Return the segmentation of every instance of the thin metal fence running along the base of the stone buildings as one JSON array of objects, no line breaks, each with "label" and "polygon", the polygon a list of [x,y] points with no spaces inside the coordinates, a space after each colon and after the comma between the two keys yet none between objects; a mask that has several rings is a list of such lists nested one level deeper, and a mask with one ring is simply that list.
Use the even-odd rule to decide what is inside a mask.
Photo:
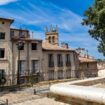
[{"label": "thin metal fence running along the base of the stone buildings", "polygon": [[[39,83],[42,81],[53,81],[53,80],[62,80],[62,79],[71,79],[71,70],[58,70],[58,71],[54,71],[54,70],[49,70],[49,72],[38,72],[36,74],[30,74],[30,75],[20,75],[19,77],[19,81],[20,84],[25,84],[25,83],[31,83],[31,84],[35,84],[35,83]],[[76,73],[75,73],[76,74]],[[78,76],[78,75],[80,76]],[[80,72],[77,72],[77,74],[75,75],[75,78],[89,78],[89,77],[95,77],[96,74],[92,74],[90,73],[89,75],[84,75],[84,73],[82,72],[82,76]],[[0,85],[0,87],[4,87],[4,86],[12,86],[15,85],[18,87],[17,85],[17,74],[14,75],[6,75],[6,83],[4,85]]]}]

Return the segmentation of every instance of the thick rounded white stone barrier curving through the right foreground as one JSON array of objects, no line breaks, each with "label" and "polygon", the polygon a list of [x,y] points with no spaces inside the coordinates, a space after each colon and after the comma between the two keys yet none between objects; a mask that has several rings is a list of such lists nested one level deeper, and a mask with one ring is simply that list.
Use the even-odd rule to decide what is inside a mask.
[{"label": "thick rounded white stone barrier curving through the right foreground", "polygon": [[92,87],[92,85],[103,82],[105,82],[105,77],[55,84],[50,87],[50,92],[59,97],[67,97],[71,101],[75,100],[81,105],[84,105],[82,102],[91,102],[90,105],[101,105],[105,104],[105,89]]}]

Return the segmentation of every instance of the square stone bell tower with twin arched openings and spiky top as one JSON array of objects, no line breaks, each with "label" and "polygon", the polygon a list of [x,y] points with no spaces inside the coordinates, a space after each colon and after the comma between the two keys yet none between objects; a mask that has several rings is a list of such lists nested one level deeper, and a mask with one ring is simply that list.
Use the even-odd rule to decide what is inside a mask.
[{"label": "square stone bell tower with twin arched openings and spiky top", "polygon": [[58,46],[58,27],[50,27],[50,30],[48,30],[48,27],[45,29],[46,34],[46,42],[50,43],[52,45]]}]

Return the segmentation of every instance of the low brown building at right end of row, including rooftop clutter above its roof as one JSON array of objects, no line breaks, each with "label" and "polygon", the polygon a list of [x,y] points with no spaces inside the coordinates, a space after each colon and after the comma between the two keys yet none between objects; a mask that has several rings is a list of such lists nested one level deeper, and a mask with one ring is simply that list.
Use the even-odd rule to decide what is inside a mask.
[{"label": "low brown building at right end of row, including rooftop clutter above its roof", "polygon": [[77,77],[89,78],[98,76],[97,60],[88,54],[88,51],[83,48],[76,49],[79,54],[79,69]]}]

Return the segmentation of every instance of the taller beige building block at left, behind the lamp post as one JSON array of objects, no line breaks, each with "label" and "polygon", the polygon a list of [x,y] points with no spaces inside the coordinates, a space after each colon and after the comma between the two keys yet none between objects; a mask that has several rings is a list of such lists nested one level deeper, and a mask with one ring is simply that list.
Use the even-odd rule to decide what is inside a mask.
[{"label": "taller beige building block at left, behind the lamp post", "polygon": [[0,71],[6,75],[7,85],[23,83],[30,73],[42,70],[42,40],[30,38],[28,30],[10,28],[13,21],[0,18]]}]

